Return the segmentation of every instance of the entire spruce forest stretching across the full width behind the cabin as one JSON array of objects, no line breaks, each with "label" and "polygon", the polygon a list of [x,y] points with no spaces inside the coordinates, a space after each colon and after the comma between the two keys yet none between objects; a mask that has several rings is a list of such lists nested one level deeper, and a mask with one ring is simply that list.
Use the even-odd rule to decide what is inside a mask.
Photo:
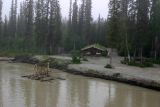
[{"label": "entire spruce forest stretching across the full width behind the cabin", "polygon": [[[106,19],[92,18],[92,0],[70,0],[62,18],[58,0],[12,0],[2,20],[0,51],[57,54],[99,43],[128,57],[160,56],[160,0],[110,0]],[[107,12],[104,11],[104,12]]]}]

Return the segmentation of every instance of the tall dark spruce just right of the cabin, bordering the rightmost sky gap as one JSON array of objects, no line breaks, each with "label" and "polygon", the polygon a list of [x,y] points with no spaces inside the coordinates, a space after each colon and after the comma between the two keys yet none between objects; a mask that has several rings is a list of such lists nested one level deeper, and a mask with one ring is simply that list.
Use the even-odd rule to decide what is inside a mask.
[{"label": "tall dark spruce just right of the cabin, bordering the rightmost sky gap", "polygon": [[120,0],[110,0],[109,2],[109,14],[108,14],[108,44],[111,48],[110,65],[112,65],[112,49],[117,48],[119,43],[119,16],[120,16]]}]

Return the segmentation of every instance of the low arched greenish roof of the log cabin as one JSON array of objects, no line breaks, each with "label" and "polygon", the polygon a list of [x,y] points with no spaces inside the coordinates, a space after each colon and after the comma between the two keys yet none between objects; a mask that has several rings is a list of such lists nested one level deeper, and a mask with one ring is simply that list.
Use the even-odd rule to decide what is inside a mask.
[{"label": "low arched greenish roof of the log cabin", "polygon": [[92,44],[92,45],[86,46],[86,47],[82,48],[81,51],[85,51],[85,50],[90,49],[90,48],[96,48],[96,49],[101,50],[101,51],[107,51],[107,48],[100,45],[100,44]]}]

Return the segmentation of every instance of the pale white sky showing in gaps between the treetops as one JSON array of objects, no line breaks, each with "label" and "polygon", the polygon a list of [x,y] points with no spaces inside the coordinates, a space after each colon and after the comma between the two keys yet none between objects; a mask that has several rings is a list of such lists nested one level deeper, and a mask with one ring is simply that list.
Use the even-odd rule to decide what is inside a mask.
[{"label": "pale white sky showing in gaps between the treetops", "polygon": [[[9,11],[10,11],[10,6],[11,6],[11,1],[12,0],[2,0],[3,1],[3,18],[5,15],[8,16]],[[18,0],[18,5],[19,3],[23,0]],[[68,17],[68,11],[69,11],[69,1],[70,0],[59,0],[60,1],[60,6],[61,6],[61,13],[62,17]],[[72,0],[74,1],[74,0]],[[81,0],[78,0],[81,1]],[[107,13],[108,13],[108,2],[109,0],[92,0],[92,17],[95,19],[98,18],[99,14],[103,18],[107,18]]]}]

